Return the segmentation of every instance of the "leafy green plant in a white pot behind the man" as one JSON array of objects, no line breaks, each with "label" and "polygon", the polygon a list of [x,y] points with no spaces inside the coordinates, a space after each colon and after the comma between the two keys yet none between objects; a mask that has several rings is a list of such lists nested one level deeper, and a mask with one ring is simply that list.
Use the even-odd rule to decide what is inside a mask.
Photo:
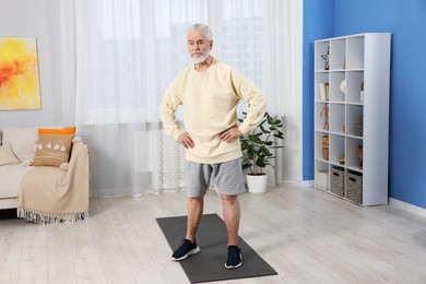
[{"label": "leafy green plant in a white pot behind the man", "polygon": [[[242,113],[247,116],[247,113]],[[242,119],[238,119],[240,122]],[[274,167],[271,161],[275,158],[273,151],[283,147],[276,140],[284,139],[281,131],[281,119],[264,114],[262,122],[240,139],[242,151],[242,170],[247,173],[247,187],[249,192],[261,193],[267,191],[267,166]]]}]

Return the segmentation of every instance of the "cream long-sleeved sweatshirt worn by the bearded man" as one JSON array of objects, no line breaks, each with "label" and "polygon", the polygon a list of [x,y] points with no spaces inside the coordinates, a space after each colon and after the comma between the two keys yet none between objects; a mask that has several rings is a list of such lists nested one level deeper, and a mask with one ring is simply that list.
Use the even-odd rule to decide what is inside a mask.
[{"label": "cream long-sleeved sweatshirt worn by the bearded man", "polygon": [[[177,140],[188,132],[196,146],[186,150],[186,159],[201,164],[217,164],[240,157],[239,140],[224,142],[222,131],[237,126],[237,105],[248,102],[247,118],[238,126],[246,134],[255,129],[267,110],[267,97],[260,88],[229,64],[214,59],[203,72],[193,64],[174,79],[163,97],[159,113],[166,134]],[[184,106],[184,125],[176,121],[178,107]]]}]

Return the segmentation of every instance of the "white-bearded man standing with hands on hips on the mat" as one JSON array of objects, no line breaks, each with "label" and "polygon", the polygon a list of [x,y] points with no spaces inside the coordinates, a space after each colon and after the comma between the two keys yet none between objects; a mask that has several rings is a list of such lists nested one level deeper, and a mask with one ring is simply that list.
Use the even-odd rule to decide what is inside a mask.
[{"label": "white-bearded man standing with hands on hips on the mat", "polygon": [[[241,265],[238,248],[240,206],[245,191],[239,137],[258,126],[267,98],[252,82],[227,63],[213,58],[212,33],[203,24],[188,29],[188,51],[192,64],[180,71],[167,88],[159,110],[165,132],[186,150],[188,223],[186,236],[173,253],[176,261],[200,252],[196,234],[203,213],[204,194],[211,178],[221,194],[228,237],[227,269]],[[248,102],[247,118],[237,126],[237,105]],[[175,119],[184,106],[185,129]]]}]

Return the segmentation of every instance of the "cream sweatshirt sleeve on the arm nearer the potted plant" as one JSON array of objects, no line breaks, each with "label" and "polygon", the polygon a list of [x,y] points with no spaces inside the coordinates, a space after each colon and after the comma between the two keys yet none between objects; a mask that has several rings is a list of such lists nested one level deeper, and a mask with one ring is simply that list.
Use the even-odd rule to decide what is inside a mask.
[{"label": "cream sweatshirt sleeve on the arm nearer the potted plant", "polygon": [[239,131],[245,135],[262,122],[267,111],[268,98],[262,91],[240,72],[233,70],[232,80],[237,94],[248,103],[247,117],[238,126]]}]

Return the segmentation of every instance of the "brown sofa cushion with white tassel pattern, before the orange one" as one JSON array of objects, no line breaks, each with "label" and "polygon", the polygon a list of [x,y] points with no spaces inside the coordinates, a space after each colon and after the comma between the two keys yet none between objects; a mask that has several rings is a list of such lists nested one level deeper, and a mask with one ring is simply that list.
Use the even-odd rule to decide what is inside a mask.
[{"label": "brown sofa cushion with white tassel pattern, before the orange one", "polygon": [[74,134],[38,134],[33,166],[59,167],[70,159]]}]

